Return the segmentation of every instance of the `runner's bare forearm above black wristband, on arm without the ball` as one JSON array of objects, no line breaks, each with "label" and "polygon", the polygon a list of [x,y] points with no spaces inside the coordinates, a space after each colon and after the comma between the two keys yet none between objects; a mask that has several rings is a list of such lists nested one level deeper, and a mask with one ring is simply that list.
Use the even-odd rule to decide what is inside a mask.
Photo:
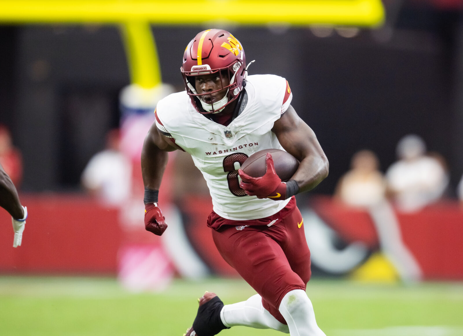
[{"label": "runner's bare forearm above black wristband, on arm without the ball", "polygon": [[152,142],[145,141],[141,159],[144,187],[159,190],[167,165],[168,153],[159,149]]}]

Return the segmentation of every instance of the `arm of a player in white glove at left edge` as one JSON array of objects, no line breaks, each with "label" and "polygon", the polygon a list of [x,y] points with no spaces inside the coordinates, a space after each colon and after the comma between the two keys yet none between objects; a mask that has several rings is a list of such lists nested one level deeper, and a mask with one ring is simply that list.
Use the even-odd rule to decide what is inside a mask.
[{"label": "arm of a player in white glove at left edge", "polygon": [[23,232],[27,218],[27,208],[19,202],[18,191],[14,187],[11,178],[6,174],[0,165],[0,207],[4,208],[11,214],[13,222],[13,247],[21,245]]}]

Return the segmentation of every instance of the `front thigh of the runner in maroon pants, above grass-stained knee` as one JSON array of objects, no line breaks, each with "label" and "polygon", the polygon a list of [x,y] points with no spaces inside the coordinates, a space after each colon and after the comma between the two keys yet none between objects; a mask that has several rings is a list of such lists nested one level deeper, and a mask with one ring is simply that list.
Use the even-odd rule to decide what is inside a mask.
[{"label": "front thigh of the runner in maroon pants, above grass-stained knee", "polygon": [[217,249],[264,299],[278,305],[289,290],[305,289],[305,282],[291,269],[282,247],[262,229],[233,230],[238,231],[234,227],[213,231]]}]

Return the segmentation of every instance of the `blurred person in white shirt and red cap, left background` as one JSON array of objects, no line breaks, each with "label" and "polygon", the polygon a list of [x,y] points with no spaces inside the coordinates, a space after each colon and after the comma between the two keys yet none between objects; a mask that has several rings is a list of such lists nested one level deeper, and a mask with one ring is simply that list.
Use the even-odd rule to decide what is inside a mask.
[{"label": "blurred person in white shirt and red cap, left background", "polygon": [[131,193],[132,166],[120,148],[119,129],[106,134],[106,149],[96,153],[82,172],[82,185],[106,206],[119,207]]}]

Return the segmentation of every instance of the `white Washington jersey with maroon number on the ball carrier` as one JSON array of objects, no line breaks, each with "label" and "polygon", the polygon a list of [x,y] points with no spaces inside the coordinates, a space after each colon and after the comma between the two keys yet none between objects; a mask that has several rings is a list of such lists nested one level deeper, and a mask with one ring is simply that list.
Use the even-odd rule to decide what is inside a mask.
[{"label": "white Washington jersey with maroon number on the ball carrier", "polygon": [[291,103],[288,82],[275,75],[251,75],[245,90],[247,104],[228,126],[198,113],[186,91],[173,93],[156,106],[156,126],[191,154],[206,179],[214,211],[230,220],[268,217],[289,202],[246,195],[238,181],[238,169],[251,154],[284,150],[271,129]]}]

